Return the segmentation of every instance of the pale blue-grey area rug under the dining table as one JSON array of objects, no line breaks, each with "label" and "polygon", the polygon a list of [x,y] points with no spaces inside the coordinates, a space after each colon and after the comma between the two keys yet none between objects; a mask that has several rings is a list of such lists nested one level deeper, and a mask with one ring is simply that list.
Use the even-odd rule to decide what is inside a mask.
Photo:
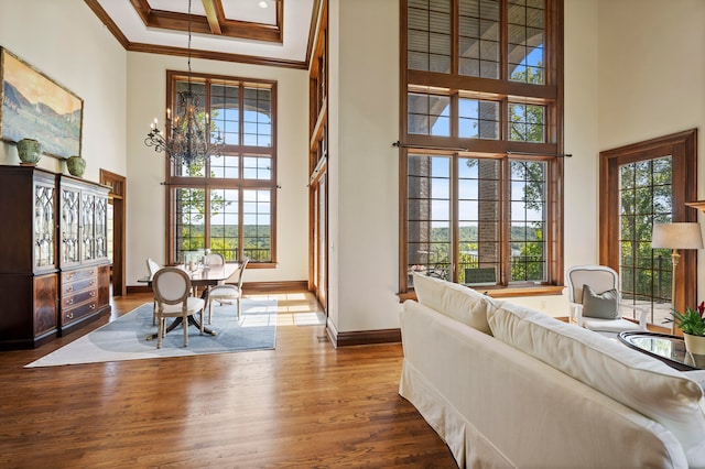
[{"label": "pale blue-grey area rug under the dining table", "polygon": [[189,326],[188,347],[184,347],[183,329],[177,326],[166,335],[162,348],[158,349],[156,339],[147,340],[148,336],[156,334],[156,326],[152,325],[152,304],[149,303],[25,368],[273,349],[276,339],[276,301],[242,299],[239,320],[235,305],[216,306],[213,324],[207,327],[215,330],[216,336],[200,336],[196,327]]}]

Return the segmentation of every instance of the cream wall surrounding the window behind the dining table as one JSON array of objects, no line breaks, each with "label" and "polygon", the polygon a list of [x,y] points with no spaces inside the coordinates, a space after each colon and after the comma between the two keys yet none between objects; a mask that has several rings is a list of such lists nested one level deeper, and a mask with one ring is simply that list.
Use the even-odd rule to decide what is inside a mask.
[{"label": "cream wall surrounding the window behind the dining table", "polygon": [[[127,284],[147,274],[147,258],[165,261],[164,154],[144,145],[154,118],[164,120],[166,70],[186,70],[185,57],[128,54]],[[246,282],[305,281],[308,275],[308,73],[192,59],[194,73],[278,81],[276,269],[248,269]]]}]

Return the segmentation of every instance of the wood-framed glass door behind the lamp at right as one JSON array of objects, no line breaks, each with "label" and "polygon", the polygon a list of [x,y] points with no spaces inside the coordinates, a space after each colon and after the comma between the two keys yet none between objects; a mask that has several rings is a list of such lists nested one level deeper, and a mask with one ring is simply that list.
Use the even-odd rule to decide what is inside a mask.
[{"label": "wood-framed glass door behind the lamp at right", "polygon": [[651,249],[654,223],[697,221],[697,132],[688,130],[600,153],[600,263],[620,274],[622,301],[664,327],[696,302],[697,257],[681,251],[675,292],[671,250]]}]

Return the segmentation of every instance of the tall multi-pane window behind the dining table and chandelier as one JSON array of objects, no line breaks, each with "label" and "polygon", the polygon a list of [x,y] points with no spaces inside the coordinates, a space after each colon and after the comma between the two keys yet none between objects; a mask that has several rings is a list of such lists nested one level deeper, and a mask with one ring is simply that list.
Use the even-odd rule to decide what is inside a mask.
[{"label": "tall multi-pane window behind the dining table and chandelier", "polygon": [[[171,108],[186,89],[183,74],[167,73]],[[205,163],[170,164],[170,262],[209,249],[226,261],[275,262],[276,84],[192,74],[192,91],[208,112],[225,155]]]}]

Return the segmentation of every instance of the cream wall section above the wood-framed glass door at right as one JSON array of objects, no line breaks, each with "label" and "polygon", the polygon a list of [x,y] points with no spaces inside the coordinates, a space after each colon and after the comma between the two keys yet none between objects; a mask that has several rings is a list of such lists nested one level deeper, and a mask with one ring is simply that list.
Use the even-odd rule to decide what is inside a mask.
[{"label": "cream wall section above the wood-framed glass door at right", "polygon": [[[698,199],[705,199],[705,2],[600,0],[598,21],[599,150],[695,128]],[[705,251],[698,264],[702,273]]]}]

